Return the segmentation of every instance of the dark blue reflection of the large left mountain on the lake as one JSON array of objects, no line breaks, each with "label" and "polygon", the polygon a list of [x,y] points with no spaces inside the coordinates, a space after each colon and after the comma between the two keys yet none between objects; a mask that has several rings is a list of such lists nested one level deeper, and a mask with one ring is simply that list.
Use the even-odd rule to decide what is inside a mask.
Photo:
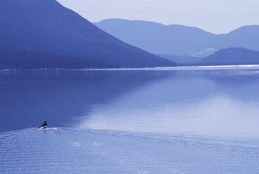
[{"label": "dark blue reflection of the large left mountain on the lake", "polygon": [[161,72],[17,71],[0,72],[0,132],[76,126],[93,105],[106,105],[151,81]]}]

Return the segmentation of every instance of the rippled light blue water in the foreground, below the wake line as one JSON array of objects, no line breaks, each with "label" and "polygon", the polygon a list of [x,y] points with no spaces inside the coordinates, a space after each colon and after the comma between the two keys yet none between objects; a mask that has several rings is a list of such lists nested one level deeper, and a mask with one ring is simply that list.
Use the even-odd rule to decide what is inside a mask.
[{"label": "rippled light blue water in the foreground, below the wake line", "polygon": [[29,128],[0,134],[0,173],[256,173],[258,140]]}]

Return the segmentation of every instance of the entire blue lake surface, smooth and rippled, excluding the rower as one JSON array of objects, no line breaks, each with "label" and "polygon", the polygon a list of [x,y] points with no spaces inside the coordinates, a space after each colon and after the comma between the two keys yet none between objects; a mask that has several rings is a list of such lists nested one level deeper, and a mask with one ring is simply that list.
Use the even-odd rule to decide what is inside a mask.
[{"label": "entire blue lake surface, smooth and rippled, excluding the rower", "polygon": [[[258,67],[0,72],[0,173],[257,173],[258,77]],[[38,130],[45,119],[53,129]]]}]

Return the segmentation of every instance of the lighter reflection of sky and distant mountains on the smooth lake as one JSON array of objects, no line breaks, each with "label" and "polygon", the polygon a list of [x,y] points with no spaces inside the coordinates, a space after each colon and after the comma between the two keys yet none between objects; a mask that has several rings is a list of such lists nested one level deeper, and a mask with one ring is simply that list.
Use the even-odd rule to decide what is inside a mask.
[{"label": "lighter reflection of sky and distant mountains on the smooth lake", "polygon": [[258,138],[258,71],[175,72],[94,105],[81,127]]}]

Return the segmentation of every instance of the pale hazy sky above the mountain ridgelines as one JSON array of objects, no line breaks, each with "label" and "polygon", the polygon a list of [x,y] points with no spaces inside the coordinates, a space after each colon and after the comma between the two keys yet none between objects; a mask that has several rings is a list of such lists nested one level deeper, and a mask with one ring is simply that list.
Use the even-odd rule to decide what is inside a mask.
[{"label": "pale hazy sky above the mountain ridgelines", "polygon": [[107,18],[200,27],[217,34],[259,24],[259,0],[58,0],[91,22]]}]

